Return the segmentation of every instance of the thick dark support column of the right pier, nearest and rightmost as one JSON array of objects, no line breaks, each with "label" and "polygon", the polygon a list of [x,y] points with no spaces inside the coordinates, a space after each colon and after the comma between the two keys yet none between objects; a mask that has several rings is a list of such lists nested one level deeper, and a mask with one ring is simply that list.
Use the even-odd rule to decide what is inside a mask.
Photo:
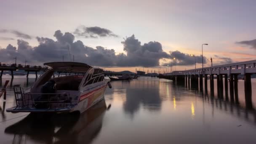
[{"label": "thick dark support column of the right pier, nearest and rightmost", "polygon": [[251,100],[251,74],[245,74],[245,105],[246,108],[252,109],[253,104]]}]

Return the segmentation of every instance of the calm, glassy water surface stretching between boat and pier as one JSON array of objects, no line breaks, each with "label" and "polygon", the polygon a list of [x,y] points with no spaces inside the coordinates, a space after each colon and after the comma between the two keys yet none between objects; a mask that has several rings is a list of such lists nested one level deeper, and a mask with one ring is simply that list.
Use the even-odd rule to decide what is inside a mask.
[{"label": "calm, glassy water surface stretching between boat and pier", "polygon": [[[9,78],[5,76],[3,82]],[[30,77],[27,84],[24,76],[17,76],[13,85],[27,87],[34,81]],[[256,106],[256,80],[252,81]],[[165,79],[139,77],[111,84],[113,88],[107,89],[105,100],[80,117],[39,119],[28,113],[5,112],[15,105],[8,87],[7,100],[0,99],[0,143],[256,144],[256,112],[244,108],[243,80],[238,83],[239,105],[174,86]]]}]

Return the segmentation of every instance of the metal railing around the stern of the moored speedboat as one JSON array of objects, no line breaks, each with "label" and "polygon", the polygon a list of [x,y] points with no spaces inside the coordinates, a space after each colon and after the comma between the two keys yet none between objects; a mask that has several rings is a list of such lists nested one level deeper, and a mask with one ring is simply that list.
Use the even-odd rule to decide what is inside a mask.
[{"label": "metal railing around the stern of the moored speedboat", "polygon": [[24,93],[23,88],[15,87],[16,109],[61,109],[72,105],[69,93]]}]

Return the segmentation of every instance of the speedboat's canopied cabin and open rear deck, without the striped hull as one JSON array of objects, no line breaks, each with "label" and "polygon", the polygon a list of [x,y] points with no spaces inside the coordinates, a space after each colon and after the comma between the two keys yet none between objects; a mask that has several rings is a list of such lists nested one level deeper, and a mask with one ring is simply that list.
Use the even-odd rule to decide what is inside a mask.
[{"label": "speedboat's canopied cabin and open rear deck, without the striped hull", "polygon": [[[44,72],[31,88],[15,90],[19,108],[36,109],[67,108],[77,104],[81,93],[106,84],[103,69],[78,62],[50,62],[44,64]],[[21,96],[19,96],[21,94]]]}]

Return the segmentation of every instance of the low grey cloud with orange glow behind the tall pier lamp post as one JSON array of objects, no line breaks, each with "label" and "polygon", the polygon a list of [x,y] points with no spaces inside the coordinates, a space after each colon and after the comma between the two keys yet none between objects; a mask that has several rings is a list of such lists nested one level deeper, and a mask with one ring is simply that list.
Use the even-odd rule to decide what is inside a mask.
[{"label": "low grey cloud with orange glow behind the tall pier lamp post", "polygon": [[[202,55],[191,56],[191,54],[181,53],[180,51],[171,51],[170,58],[172,59],[172,63],[176,65],[192,65],[195,64],[195,61],[197,64],[202,64]],[[207,61],[207,58],[204,56],[203,63],[206,63]],[[163,66],[167,65],[171,65],[171,63],[168,62],[163,64]]]}]

